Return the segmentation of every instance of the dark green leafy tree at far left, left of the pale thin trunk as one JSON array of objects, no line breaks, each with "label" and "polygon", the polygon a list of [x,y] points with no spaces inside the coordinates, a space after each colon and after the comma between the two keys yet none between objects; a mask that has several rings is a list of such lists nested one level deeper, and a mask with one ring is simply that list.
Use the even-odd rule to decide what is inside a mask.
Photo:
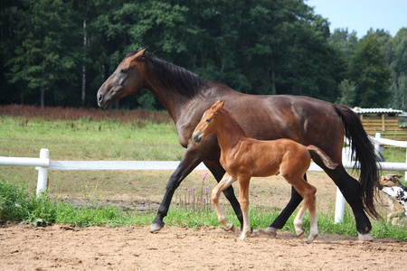
[{"label": "dark green leafy tree at far left, left of the pale thin trunk", "polygon": [[[23,86],[28,93],[40,93],[41,107],[45,93],[51,92],[56,100],[70,95],[69,87],[79,81],[75,71],[78,52],[72,51],[80,44],[71,21],[71,8],[58,0],[27,1],[19,10],[23,18],[15,25],[18,45],[14,56],[7,63],[9,83]],[[58,88],[57,88],[58,86]]]}]

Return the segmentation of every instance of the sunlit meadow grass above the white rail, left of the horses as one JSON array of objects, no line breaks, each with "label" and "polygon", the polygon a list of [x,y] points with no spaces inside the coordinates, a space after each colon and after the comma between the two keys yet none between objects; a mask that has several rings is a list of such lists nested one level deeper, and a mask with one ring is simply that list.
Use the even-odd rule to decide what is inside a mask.
[{"label": "sunlit meadow grass above the white rail, left of the horses", "polygon": [[[88,120],[31,120],[0,117],[3,156],[38,157],[41,148],[52,160],[179,160],[184,154],[174,125],[145,126]],[[129,147],[132,146],[132,147]]]}]

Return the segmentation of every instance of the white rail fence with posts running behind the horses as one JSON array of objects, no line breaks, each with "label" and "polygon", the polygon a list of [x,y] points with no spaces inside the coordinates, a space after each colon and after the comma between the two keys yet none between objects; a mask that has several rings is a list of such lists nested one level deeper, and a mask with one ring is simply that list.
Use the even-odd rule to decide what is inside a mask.
[{"label": "white rail fence with posts running behind the horses", "polygon": [[[381,138],[380,133],[371,137],[374,148],[378,152],[380,145],[395,145],[407,148],[407,142]],[[81,171],[81,170],[175,170],[179,161],[50,161],[48,149],[41,149],[40,158],[5,157],[0,156],[0,165],[35,166],[38,170],[37,195],[45,192],[49,170],[56,171]],[[407,154],[406,154],[407,155]],[[349,154],[344,149],[343,164],[345,169],[354,168],[355,162],[349,161]],[[381,170],[403,171],[407,180],[407,156],[406,163],[379,163]],[[195,170],[208,170],[204,164],[199,164]],[[311,163],[308,171],[322,171],[315,163]],[[345,198],[339,189],[336,190],[335,221],[341,222],[344,218]]]}]

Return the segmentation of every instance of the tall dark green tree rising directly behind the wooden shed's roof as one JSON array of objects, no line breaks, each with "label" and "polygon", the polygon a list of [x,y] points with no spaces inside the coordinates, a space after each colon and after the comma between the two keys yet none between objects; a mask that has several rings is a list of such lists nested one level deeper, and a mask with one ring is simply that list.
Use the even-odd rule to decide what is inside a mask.
[{"label": "tall dark green tree rising directly behind the wooden shed's roof", "polygon": [[388,106],[391,70],[386,65],[379,39],[374,33],[368,33],[357,44],[349,63],[348,78],[355,84],[355,106]]}]

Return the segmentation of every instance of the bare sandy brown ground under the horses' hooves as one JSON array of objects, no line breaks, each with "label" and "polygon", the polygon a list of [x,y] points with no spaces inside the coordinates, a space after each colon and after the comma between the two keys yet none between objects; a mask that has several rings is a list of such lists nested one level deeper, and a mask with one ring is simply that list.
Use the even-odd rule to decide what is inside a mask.
[{"label": "bare sandy brown ground under the horses' hooves", "polygon": [[322,235],[312,244],[288,232],[255,230],[241,242],[222,228],[0,229],[0,270],[396,270],[407,243]]}]

